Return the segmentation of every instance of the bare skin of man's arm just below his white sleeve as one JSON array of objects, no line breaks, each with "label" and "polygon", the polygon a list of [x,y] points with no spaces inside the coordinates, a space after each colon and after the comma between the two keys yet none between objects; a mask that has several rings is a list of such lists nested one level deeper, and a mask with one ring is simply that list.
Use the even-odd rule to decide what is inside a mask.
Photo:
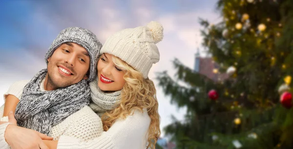
[{"label": "bare skin of man's arm just below his white sleeve", "polygon": [[5,102],[5,106],[4,106],[4,112],[3,112],[3,117],[4,116],[8,116],[8,112],[13,111],[15,112],[16,106],[17,104],[20,102],[20,100],[12,95],[12,94],[8,94],[6,96],[6,102]]}]

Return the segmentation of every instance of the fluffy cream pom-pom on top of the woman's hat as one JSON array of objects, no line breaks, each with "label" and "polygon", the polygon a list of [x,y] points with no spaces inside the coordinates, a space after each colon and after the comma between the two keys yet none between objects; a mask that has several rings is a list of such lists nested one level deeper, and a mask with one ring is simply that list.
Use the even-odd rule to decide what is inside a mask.
[{"label": "fluffy cream pom-pom on top of the woman's hat", "polygon": [[156,21],[151,21],[147,24],[147,27],[152,32],[155,43],[162,41],[164,37],[164,34],[163,34],[164,28],[162,24]]}]

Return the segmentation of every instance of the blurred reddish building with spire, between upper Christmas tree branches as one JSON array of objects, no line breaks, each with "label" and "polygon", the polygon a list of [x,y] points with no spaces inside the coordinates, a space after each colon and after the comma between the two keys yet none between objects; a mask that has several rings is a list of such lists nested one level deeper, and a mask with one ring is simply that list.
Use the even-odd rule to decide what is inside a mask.
[{"label": "blurred reddish building with spire, between upper Christmas tree branches", "polygon": [[219,73],[220,65],[213,61],[211,57],[201,57],[199,49],[195,54],[194,72],[206,75],[214,81],[222,81],[228,78],[226,73]]}]

